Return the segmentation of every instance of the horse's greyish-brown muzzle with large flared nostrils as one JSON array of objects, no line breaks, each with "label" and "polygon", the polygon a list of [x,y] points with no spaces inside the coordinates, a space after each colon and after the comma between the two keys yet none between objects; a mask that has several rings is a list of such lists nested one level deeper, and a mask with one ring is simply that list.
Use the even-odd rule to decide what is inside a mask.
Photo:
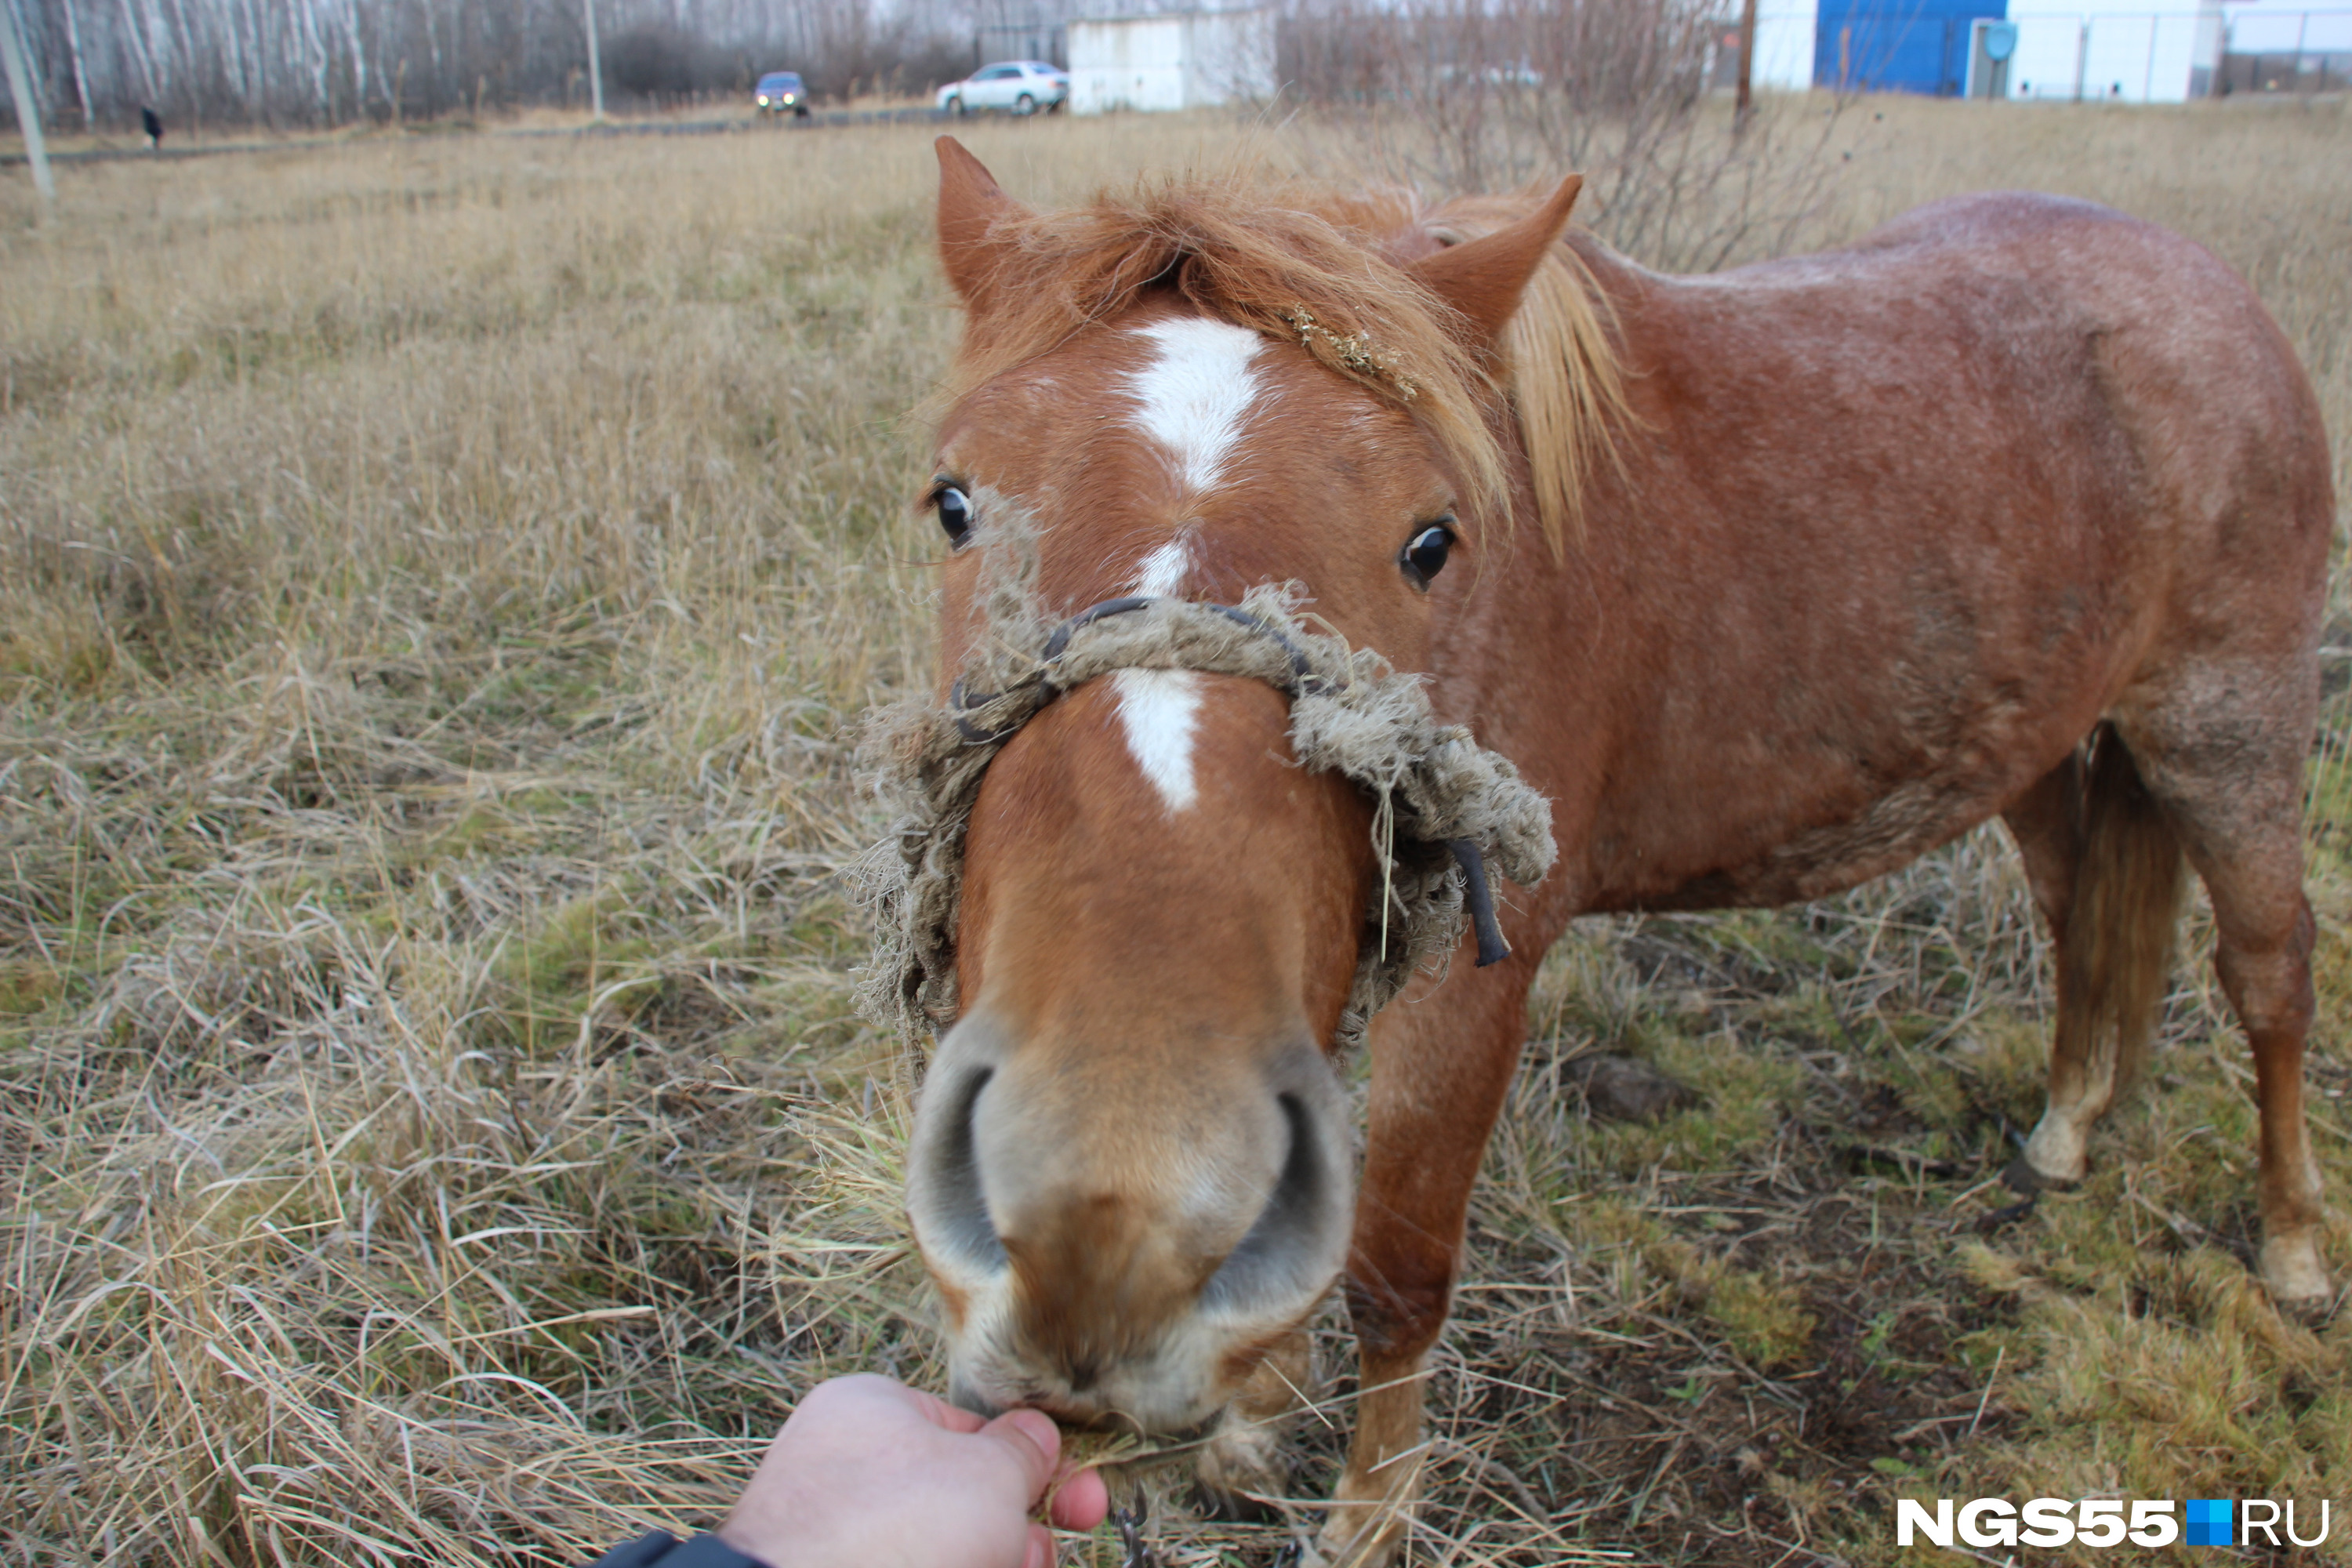
[{"label": "horse's greyish-brown muzzle with large flared nostrils", "polygon": [[1169,1434],[1216,1415],[1348,1255],[1345,1093],[1303,1034],[943,1039],[908,1152],[950,1387]]}]

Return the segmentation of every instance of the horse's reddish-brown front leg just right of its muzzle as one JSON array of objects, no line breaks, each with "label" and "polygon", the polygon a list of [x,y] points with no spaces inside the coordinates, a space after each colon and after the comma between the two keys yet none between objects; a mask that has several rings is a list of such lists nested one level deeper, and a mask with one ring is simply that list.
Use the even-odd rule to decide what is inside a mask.
[{"label": "horse's reddish-brown front leg just right of its muzzle", "polygon": [[1456,957],[1371,1032],[1371,1117],[1355,1201],[1348,1314],[1362,1347],[1355,1441],[1317,1552],[1334,1568],[1390,1563],[1421,1495],[1423,1361],[1454,1295],[1470,1185],[1526,1034],[1543,947],[1491,969]]}]

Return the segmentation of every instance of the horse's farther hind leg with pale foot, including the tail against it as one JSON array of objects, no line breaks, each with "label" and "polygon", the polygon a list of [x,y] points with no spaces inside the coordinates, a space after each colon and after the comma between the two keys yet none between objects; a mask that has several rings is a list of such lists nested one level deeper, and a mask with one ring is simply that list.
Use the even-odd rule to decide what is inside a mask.
[{"label": "horse's farther hind leg with pale foot, including the tail against it", "polygon": [[2058,959],[2049,1107],[2013,1187],[2079,1182],[2091,1126],[2131,1086],[2171,966],[2180,839],[2107,726],[2004,813]]}]

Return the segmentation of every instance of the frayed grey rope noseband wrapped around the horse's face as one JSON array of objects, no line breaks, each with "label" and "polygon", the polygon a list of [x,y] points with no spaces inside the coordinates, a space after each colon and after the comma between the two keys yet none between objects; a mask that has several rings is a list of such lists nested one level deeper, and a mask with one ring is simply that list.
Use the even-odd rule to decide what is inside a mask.
[{"label": "frayed grey rope noseband wrapped around the horse's face", "polygon": [[1343,1048],[1362,1041],[1371,1016],[1416,969],[1451,959],[1470,865],[1458,860],[1454,842],[1468,842],[1522,886],[1550,870],[1550,802],[1465,726],[1437,724],[1423,677],[1308,630],[1296,590],[1254,588],[1242,614],[1150,599],[1049,625],[1030,592],[1035,527],[997,496],[974,503],[981,517],[1007,517],[976,541],[990,548],[981,585],[985,637],[950,705],[924,698],[884,708],[868,719],[863,748],[880,795],[898,816],[849,872],[851,891],[875,919],[858,1009],[910,1046],[922,1048],[957,1011],[964,827],[990,759],[1047,703],[1112,670],[1263,679],[1291,696],[1298,766],[1343,773],[1378,802],[1381,889],[1364,912],[1355,985],[1336,1030]]}]

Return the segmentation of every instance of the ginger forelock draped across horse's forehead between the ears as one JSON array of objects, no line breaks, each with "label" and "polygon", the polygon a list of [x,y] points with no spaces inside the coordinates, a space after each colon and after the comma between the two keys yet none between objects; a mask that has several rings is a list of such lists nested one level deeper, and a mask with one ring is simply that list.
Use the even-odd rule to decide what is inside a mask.
[{"label": "ginger forelock draped across horse's forehead between the ears", "polygon": [[1152,296],[1305,348],[1411,414],[1461,487],[1463,517],[1505,517],[1491,414],[1503,388],[1449,306],[1404,268],[1418,207],[1404,195],[1301,195],[1171,183],[1065,212],[997,219],[1004,284],[971,315],[943,388],[974,388],[1115,322]]}]

